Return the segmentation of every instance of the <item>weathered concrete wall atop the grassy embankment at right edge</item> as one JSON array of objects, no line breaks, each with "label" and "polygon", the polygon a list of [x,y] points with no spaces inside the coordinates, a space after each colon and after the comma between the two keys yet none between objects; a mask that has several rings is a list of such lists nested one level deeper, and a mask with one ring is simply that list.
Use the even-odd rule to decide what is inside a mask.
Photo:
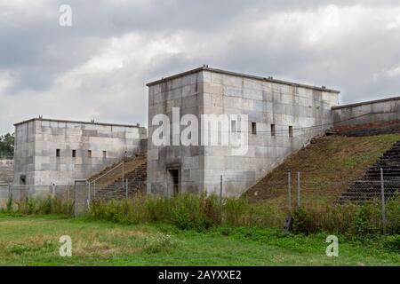
[{"label": "weathered concrete wall atop the grassy embankment at right edge", "polygon": [[348,136],[400,132],[400,97],[332,107],[334,130]]}]

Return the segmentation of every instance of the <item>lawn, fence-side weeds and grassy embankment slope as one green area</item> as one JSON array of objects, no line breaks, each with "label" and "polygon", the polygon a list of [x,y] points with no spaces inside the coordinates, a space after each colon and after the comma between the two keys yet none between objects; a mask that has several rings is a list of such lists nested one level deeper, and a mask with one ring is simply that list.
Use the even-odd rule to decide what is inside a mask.
[{"label": "lawn, fence-side weeds and grassy embankment slope as one green area", "polygon": [[[398,265],[400,199],[386,204],[387,236],[379,201],[332,203],[398,139],[320,139],[244,197],[221,203],[204,194],[138,195],[92,201],[87,214],[73,218],[73,204],[58,198],[10,199],[0,211],[0,264]],[[297,170],[301,208],[291,212],[293,230],[284,234],[286,172]],[[339,257],[325,255],[331,234],[339,237]],[[71,236],[73,257],[59,256],[61,235]]]}]

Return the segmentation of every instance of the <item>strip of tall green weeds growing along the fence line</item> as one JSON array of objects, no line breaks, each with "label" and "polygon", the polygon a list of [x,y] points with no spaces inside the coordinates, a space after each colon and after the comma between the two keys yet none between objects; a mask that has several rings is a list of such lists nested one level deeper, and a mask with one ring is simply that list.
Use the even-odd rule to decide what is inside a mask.
[{"label": "strip of tall green weeds growing along the fence line", "polygon": [[[26,199],[8,201],[5,212],[23,215],[66,214],[73,204],[60,199]],[[174,225],[180,230],[205,232],[215,227],[280,228],[286,209],[268,202],[251,203],[244,198],[228,198],[220,203],[214,196],[180,194],[173,198],[136,196],[129,200],[92,201],[86,217],[124,225]],[[294,233],[345,234],[364,240],[382,232],[380,202],[364,205],[332,205],[324,201],[307,202],[292,212]],[[400,199],[386,203],[387,233],[400,233]]]}]

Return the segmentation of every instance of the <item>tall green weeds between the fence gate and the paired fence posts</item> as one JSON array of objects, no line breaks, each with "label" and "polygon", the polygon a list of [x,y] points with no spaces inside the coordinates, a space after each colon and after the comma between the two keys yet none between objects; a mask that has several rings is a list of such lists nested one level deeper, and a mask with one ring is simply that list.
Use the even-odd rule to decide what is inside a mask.
[{"label": "tall green weeds between the fence gate and the paired fence posts", "polygon": [[173,198],[137,196],[124,201],[94,201],[89,217],[124,224],[167,223],[182,230],[207,230],[214,226],[281,225],[284,213],[266,203],[225,199],[216,195],[182,193]]}]

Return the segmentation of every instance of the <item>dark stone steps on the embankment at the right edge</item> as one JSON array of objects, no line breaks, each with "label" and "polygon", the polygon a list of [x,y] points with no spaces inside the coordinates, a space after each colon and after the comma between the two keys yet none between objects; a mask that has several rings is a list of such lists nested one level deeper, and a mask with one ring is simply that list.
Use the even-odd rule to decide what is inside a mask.
[{"label": "dark stone steps on the embankment at the right edge", "polygon": [[380,169],[383,169],[384,195],[387,201],[400,191],[400,141],[397,141],[364,175],[340,194],[339,203],[370,202],[381,198]]}]

